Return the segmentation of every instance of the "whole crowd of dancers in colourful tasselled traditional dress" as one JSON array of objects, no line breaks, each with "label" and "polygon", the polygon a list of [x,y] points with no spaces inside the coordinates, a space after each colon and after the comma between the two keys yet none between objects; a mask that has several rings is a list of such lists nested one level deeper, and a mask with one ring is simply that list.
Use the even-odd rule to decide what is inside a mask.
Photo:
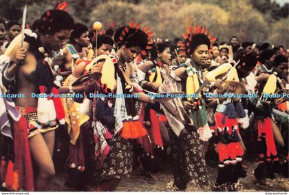
[{"label": "whole crowd of dancers in colourful tasselled traditional dress", "polygon": [[65,6],[30,28],[0,19],[1,191],[47,191],[57,167],[70,187],[115,191],[164,165],[164,191],[237,191],[248,153],[259,185],[288,177],[286,48],[201,25],[173,41],[142,23],[88,28]]}]

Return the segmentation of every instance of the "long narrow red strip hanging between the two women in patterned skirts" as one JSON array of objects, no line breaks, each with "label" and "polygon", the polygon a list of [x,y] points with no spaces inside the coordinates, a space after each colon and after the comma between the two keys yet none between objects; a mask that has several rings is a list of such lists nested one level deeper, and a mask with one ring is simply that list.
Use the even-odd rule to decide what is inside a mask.
[{"label": "long narrow red strip hanging between the two women in patterned skirts", "polygon": [[150,109],[149,114],[151,115],[151,132],[153,134],[153,142],[155,145],[163,146],[162,136],[160,134],[160,122],[158,121],[158,116],[156,111]]}]

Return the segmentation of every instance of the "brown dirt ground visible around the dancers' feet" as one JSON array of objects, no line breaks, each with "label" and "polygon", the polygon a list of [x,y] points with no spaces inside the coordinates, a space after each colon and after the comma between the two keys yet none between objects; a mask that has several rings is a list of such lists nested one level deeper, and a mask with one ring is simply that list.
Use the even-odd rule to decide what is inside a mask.
[{"label": "brown dirt ground visible around the dancers' feet", "polygon": [[[239,191],[242,192],[288,192],[289,190],[289,178],[283,178],[279,174],[275,174],[276,178],[271,180],[267,179],[267,186],[257,185],[254,179],[253,171],[257,166],[257,162],[244,161],[246,167],[246,178],[240,179]],[[217,177],[217,167],[208,167],[209,178],[211,182],[215,181]],[[171,181],[172,175],[169,167],[165,167],[164,170],[157,174],[152,174],[153,179],[141,176],[138,172],[133,172],[129,178],[122,179],[120,185],[116,189],[118,192],[165,192],[167,191],[167,183]],[[67,187],[65,181],[68,174],[66,172],[57,173],[56,177],[50,183],[51,192],[74,192],[76,189]],[[88,191],[93,191],[94,186],[88,186]],[[200,191],[193,184],[189,184],[186,189],[187,192]]]}]

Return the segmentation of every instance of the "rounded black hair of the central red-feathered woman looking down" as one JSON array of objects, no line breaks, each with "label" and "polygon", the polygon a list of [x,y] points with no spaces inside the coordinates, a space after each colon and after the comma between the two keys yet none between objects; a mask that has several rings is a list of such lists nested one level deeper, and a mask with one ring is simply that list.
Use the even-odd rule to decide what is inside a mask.
[{"label": "rounded black hair of the central red-feathered woman looking down", "polygon": [[129,28],[128,36],[124,37],[124,39],[120,40],[120,34],[125,28],[129,28],[129,26],[122,26],[116,30],[116,34],[114,34],[114,41],[118,44],[120,48],[122,45],[125,45],[127,48],[131,47],[140,47],[141,50],[145,50],[147,48],[147,34],[142,30],[136,28]]}]

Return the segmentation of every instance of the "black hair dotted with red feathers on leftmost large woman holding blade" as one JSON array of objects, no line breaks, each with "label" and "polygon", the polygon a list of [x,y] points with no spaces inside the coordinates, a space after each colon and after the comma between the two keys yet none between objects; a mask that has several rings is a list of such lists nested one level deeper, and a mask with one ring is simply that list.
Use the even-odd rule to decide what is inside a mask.
[{"label": "black hair dotted with red feathers on leftmost large woman holding blade", "polygon": [[74,19],[68,12],[63,10],[47,10],[41,16],[39,23],[39,33],[54,34],[61,30],[72,30]]}]

